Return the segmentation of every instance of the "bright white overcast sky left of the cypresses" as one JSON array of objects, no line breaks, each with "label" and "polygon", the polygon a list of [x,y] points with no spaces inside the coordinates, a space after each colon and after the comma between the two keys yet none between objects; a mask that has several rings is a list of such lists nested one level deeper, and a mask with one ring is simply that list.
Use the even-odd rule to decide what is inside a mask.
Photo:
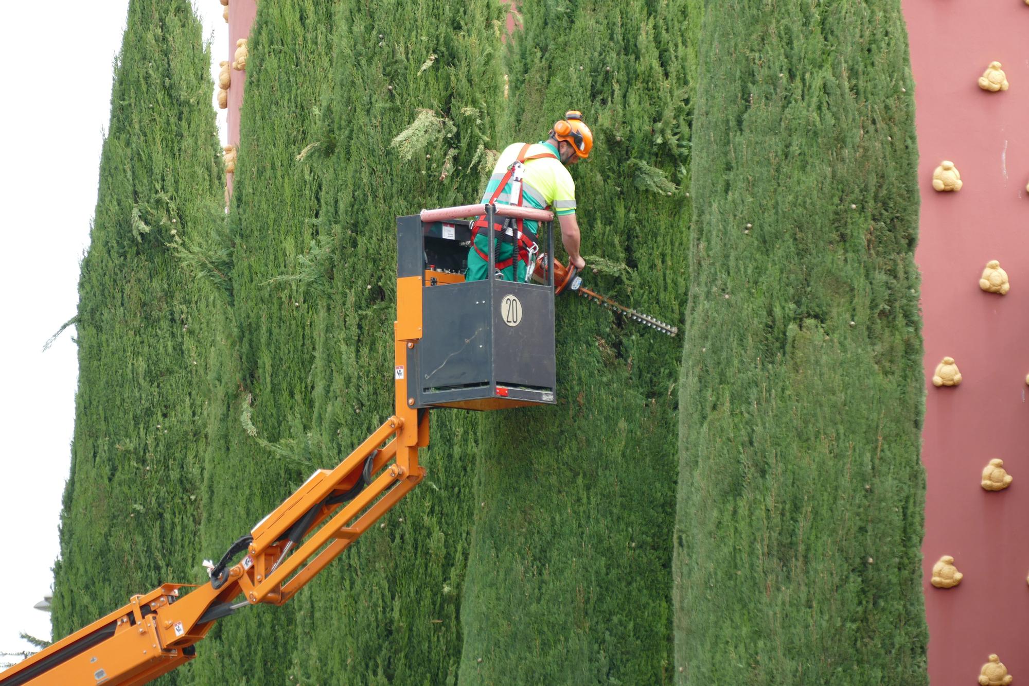
[{"label": "bright white overcast sky left of the cypresses", "polygon": [[[0,652],[30,648],[20,631],[50,638],[49,615],[32,606],[54,583],[75,418],[74,330],[42,347],[76,312],[128,7],[0,5]],[[228,53],[221,9],[198,0],[213,45],[212,97]],[[225,110],[217,111],[224,141]]]}]

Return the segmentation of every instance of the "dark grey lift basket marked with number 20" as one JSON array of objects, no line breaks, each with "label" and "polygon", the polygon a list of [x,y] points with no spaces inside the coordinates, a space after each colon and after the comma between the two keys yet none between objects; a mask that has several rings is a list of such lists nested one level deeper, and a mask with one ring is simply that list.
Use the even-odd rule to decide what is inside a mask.
[{"label": "dark grey lift basket marked with number 20", "polygon": [[[464,279],[472,221],[462,217],[469,216],[505,228],[487,232],[494,278]],[[517,244],[517,218],[538,221],[540,247],[553,255],[554,215],[545,210],[464,205],[397,217],[397,283],[414,277],[398,288],[397,311],[421,321],[407,364],[396,369],[409,375],[409,405],[499,410],[556,402],[554,269],[544,261],[537,282],[504,280],[496,269],[499,242]]]}]

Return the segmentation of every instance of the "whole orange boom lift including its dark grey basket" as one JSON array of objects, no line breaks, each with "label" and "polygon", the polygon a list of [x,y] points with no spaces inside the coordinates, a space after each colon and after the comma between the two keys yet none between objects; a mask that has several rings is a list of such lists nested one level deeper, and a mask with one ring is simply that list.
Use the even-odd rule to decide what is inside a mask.
[{"label": "whole orange boom lift including its dark grey basket", "polygon": [[[549,254],[554,254],[549,211],[464,205],[397,218],[393,416],[334,469],[315,472],[239,539],[214,567],[209,583],[163,584],[149,593],[133,595],[118,610],[0,674],[0,686],[149,683],[192,659],[194,644],[218,619],[246,606],[289,601],[418,485],[425,476],[418,451],[429,444],[429,408],[489,410],[555,403],[554,294],[574,278],[575,270],[563,273],[565,278],[557,288],[555,270],[545,265],[541,284],[499,279],[465,282],[461,260],[471,239],[470,222],[459,217],[483,215],[488,226],[511,227],[510,219],[519,217],[539,221],[548,235]],[[513,241],[517,235],[489,234],[492,274],[495,242]],[[539,280],[540,275],[536,276]],[[455,302],[470,306],[472,301],[485,317],[472,322],[473,336],[481,337],[478,348],[487,352],[477,367],[460,366],[437,383],[433,377],[443,378],[439,370],[455,356],[460,361],[464,355],[457,352],[474,339],[457,340],[460,332],[455,336],[442,325],[434,332],[430,328],[426,337],[423,318],[429,317],[423,314],[434,317],[436,310],[431,307],[446,309]],[[524,314],[523,301],[527,304]],[[501,353],[507,358],[494,359]],[[434,356],[443,358],[435,368]],[[413,383],[416,376],[419,383]],[[246,554],[234,563],[241,553]]]}]

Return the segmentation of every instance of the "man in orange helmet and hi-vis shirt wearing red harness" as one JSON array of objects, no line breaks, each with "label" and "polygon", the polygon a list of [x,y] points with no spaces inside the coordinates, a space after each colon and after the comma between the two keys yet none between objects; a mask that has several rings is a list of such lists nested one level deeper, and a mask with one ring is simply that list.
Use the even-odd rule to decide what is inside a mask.
[{"label": "man in orange helmet and hi-vis shirt wearing red harness", "polygon": [[[552,209],[561,225],[561,240],[568,252],[569,263],[581,271],[586,260],[579,254],[579,228],[575,218],[575,182],[568,167],[590,157],[593,147],[593,132],[577,111],[565,113],[565,118],[555,123],[546,140],[530,145],[512,143],[500,153],[493,169],[493,176],[483,194],[485,204],[518,205],[536,209]],[[539,252],[536,240],[538,222],[531,219],[497,217],[494,229],[514,237],[518,259],[514,259],[516,243],[499,240],[494,243],[497,272],[505,280],[526,281],[530,273],[529,265],[535,262]],[[490,255],[489,234],[486,233],[486,217],[481,216],[473,225],[471,249],[468,251],[466,281],[478,281],[487,277]],[[517,270],[517,273],[516,273]]]}]

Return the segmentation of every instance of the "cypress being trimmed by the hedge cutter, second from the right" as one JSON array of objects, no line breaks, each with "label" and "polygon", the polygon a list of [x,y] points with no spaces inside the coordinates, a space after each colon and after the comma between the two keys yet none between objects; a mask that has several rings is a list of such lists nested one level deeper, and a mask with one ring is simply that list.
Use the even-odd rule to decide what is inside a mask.
[{"label": "cypress being trimmed by the hedge cutter, second from the right", "polygon": [[[581,110],[595,146],[571,173],[588,285],[680,320],[684,2],[521,12],[502,144]],[[668,683],[679,344],[572,296],[557,337],[558,406],[484,419],[459,683]]]}]

